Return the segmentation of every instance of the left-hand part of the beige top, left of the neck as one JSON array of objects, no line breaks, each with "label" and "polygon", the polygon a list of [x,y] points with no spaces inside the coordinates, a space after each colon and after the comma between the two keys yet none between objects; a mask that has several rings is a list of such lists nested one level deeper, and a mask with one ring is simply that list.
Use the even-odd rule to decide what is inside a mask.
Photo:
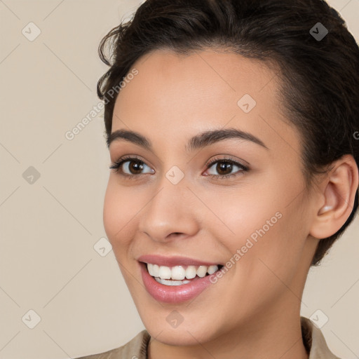
[{"label": "left-hand part of the beige top, left of the neck", "polygon": [[150,339],[149,332],[142,330],[128,343],[118,348],[93,355],[82,356],[74,359],[146,359],[147,344]]}]

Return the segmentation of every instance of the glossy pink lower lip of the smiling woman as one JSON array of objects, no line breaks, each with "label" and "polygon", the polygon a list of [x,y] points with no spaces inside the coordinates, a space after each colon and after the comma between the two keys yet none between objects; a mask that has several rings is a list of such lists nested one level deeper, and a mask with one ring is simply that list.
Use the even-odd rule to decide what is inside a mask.
[{"label": "glossy pink lower lip of the smiling woman", "polygon": [[147,292],[149,292],[154,299],[165,303],[180,303],[197,297],[198,294],[212,284],[210,282],[210,276],[214,276],[215,274],[213,273],[203,278],[196,278],[187,284],[163,285],[156,282],[154,277],[149,274],[146,264],[140,262],[140,267],[142,280]]}]

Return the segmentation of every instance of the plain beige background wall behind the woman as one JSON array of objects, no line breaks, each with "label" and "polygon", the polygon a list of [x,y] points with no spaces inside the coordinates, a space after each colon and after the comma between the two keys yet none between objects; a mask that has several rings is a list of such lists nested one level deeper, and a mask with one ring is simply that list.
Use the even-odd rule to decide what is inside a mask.
[{"label": "plain beige background wall behind the woman", "polygon": [[[329,2],[359,39],[359,0]],[[144,329],[114,253],[95,250],[106,237],[103,110],[73,140],[65,137],[100,102],[100,39],[138,4],[0,0],[0,359],[76,358]],[[29,22],[41,31],[33,41]],[[302,306],[308,318],[325,313],[328,346],[347,359],[359,356],[358,235],[356,217],[311,269]]]}]

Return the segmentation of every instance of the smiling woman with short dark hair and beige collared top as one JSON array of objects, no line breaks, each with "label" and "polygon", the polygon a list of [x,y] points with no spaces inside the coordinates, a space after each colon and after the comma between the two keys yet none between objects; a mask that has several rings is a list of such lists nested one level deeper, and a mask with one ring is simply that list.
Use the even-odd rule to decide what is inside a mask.
[{"label": "smiling woman with short dark hair and beige collared top", "polygon": [[300,316],[358,209],[359,48],[338,13],[149,0],[100,55],[104,228],[146,330],[83,358],[338,358]]}]

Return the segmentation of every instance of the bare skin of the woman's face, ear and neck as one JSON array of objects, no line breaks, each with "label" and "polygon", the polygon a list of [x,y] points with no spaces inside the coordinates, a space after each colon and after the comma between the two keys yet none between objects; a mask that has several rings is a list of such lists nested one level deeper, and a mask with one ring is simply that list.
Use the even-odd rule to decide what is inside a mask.
[{"label": "bare skin of the woman's face, ear and neck", "polygon": [[[137,179],[111,170],[104,228],[151,334],[148,357],[308,358],[300,327],[304,283],[319,239],[340,229],[351,213],[358,188],[353,157],[334,163],[310,195],[304,190],[299,133],[280,111],[275,73],[261,62],[213,49],[189,56],[155,50],[133,67],[139,73],[116,99],[112,132],[134,130],[153,149],[111,143],[111,163],[125,155],[144,163],[140,174],[129,172],[131,163],[122,167]],[[248,114],[237,104],[245,94],[257,102]],[[190,137],[222,128],[245,130],[268,149],[232,138],[184,151]],[[221,163],[206,168],[228,155],[250,170],[221,172]],[[173,165],[185,175],[178,184],[165,177]],[[237,176],[218,179],[225,174]],[[195,299],[165,304],[145,289],[140,255],[226,264],[276,212],[282,215],[276,224]],[[175,310],[184,319],[178,327],[166,320]]]}]

